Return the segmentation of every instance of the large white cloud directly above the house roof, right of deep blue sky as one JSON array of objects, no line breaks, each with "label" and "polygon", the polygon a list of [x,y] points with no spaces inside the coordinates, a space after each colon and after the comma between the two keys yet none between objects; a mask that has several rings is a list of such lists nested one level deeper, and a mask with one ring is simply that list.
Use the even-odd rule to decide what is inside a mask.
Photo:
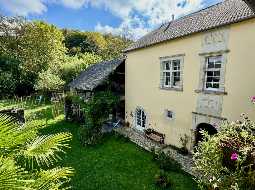
[{"label": "large white cloud directly above the house roof, right of deep blue sky", "polygon": [[[180,3],[185,6],[178,6]],[[91,0],[95,7],[103,7],[122,19],[119,27],[97,24],[95,30],[106,33],[122,34],[130,31],[129,36],[138,39],[158,25],[202,8],[203,0]]]}]

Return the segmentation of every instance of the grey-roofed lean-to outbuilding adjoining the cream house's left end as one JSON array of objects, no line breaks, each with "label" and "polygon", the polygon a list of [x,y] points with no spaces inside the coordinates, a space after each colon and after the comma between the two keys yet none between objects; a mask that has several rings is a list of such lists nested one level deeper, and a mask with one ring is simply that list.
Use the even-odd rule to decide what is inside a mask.
[{"label": "grey-roofed lean-to outbuilding adjoining the cream house's left end", "polygon": [[[113,113],[118,119],[125,118],[125,59],[104,61],[90,66],[73,80],[68,88],[88,100],[94,93],[110,90],[120,97],[120,103]],[[78,111],[78,113],[80,113]]]}]

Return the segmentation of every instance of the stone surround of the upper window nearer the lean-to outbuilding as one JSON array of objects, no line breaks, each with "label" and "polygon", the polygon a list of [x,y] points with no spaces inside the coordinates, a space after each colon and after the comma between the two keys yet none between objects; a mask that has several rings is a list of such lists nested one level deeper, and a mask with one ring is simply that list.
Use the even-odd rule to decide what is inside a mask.
[{"label": "stone surround of the upper window nearer the lean-to outbuilding", "polygon": [[[176,54],[176,55],[172,55],[172,56],[164,56],[164,57],[160,57],[160,86],[159,88],[161,90],[173,90],[173,91],[183,91],[183,69],[184,69],[184,56],[185,54]],[[179,59],[180,60],[180,86],[179,87],[165,87],[163,85],[163,62],[164,61],[170,61],[170,60],[175,60],[175,59]]]}]

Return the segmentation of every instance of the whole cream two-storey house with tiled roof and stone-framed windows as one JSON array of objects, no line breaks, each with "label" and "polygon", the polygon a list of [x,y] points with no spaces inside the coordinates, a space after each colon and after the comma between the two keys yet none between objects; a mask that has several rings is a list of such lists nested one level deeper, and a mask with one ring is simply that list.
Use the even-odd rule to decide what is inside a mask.
[{"label": "whole cream two-storey house with tiled roof and stone-framed windows", "polygon": [[[249,4],[250,2],[250,4]],[[225,0],[163,24],[125,50],[125,119],[189,149],[199,130],[217,133],[248,113],[255,120],[254,1]]]}]

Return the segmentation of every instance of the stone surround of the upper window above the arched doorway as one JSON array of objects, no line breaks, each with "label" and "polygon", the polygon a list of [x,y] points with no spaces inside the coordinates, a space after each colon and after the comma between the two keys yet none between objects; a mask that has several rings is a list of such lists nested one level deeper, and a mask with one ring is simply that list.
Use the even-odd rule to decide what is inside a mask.
[{"label": "stone surround of the upper window above the arched doorway", "polygon": [[[200,53],[200,76],[199,76],[199,86],[195,90],[196,93],[204,94],[215,94],[215,95],[227,95],[225,91],[225,75],[226,75],[226,64],[227,64],[227,54],[230,50],[216,51],[216,52],[205,52]],[[220,77],[220,88],[218,90],[207,90],[205,89],[205,67],[206,59],[210,56],[222,56],[222,68],[221,68],[221,77]]]}]

